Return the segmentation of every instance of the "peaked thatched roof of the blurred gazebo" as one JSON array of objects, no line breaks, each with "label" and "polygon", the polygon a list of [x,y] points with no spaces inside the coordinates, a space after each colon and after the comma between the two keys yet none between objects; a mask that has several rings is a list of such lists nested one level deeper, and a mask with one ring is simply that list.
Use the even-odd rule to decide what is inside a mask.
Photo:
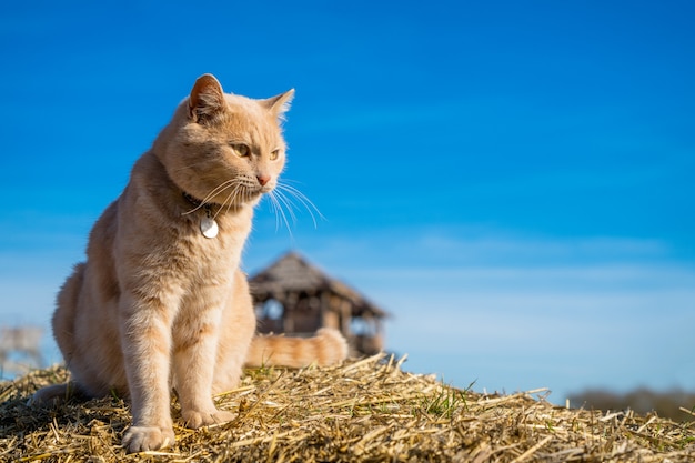
[{"label": "peaked thatched roof of the blurred gazebo", "polygon": [[326,275],[296,252],[289,252],[268,269],[249,280],[251,294],[256,301],[274,299],[281,303],[290,294],[319,294],[328,292],[352,304],[353,316],[383,319],[389,313],[346,284]]}]

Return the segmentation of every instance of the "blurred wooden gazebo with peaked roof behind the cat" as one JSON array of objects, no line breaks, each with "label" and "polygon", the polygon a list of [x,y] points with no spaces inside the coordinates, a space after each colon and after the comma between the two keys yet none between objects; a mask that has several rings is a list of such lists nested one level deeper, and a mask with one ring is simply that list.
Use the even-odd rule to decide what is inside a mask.
[{"label": "blurred wooden gazebo with peaked roof behind the cat", "polygon": [[249,283],[260,333],[306,336],[325,326],[340,330],[354,354],[384,349],[382,321],[389,314],[296,252],[283,255]]}]

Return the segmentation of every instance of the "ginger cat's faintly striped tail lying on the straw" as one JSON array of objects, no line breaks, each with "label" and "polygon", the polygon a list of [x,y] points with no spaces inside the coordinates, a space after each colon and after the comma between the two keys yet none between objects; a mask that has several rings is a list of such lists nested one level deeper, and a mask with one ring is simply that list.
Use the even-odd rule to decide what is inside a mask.
[{"label": "ginger cat's faintly striped tail lying on the straw", "polygon": [[302,368],[340,363],[348,356],[345,338],[331,328],[322,328],[313,338],[255,336],[246,355],[246,366]]}]

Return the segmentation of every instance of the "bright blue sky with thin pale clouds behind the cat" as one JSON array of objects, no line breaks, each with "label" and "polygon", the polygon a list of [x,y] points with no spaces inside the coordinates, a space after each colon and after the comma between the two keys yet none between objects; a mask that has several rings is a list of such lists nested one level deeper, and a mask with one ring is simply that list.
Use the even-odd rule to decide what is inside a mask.
[{"label": "bright blue sky with thin pale clouds behind the cat", "polygon": [[262,204],[250,272],[300,250],[456,385],[695,389],[692,2],[20,3],[0,14],[0,324],[48,325],[212,72],[296,89],[285,179],[325,217],[290,236]]}]

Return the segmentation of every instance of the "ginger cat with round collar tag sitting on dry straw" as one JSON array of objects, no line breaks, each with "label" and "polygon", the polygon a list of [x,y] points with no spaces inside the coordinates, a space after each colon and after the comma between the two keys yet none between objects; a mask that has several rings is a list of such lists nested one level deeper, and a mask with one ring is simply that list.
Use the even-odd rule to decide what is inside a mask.
[{"label": "ginger cat with round collar tag sitting on dry straw", "polygon": [[309,340],[256,336],[239,270],[253,208],[285,163],[281,121],[294,91],[268,100],[225,94],[200,77],[130,182],[91,231],[87,262],[58,295],[53,334],[73,383],[46,387],[34,403],[115,390],[131,400],[129,452],[174,442],[170,394],[188,426],[232,419],[212,394],[233,389],[243,364],[340,362],[335,330]]}]

